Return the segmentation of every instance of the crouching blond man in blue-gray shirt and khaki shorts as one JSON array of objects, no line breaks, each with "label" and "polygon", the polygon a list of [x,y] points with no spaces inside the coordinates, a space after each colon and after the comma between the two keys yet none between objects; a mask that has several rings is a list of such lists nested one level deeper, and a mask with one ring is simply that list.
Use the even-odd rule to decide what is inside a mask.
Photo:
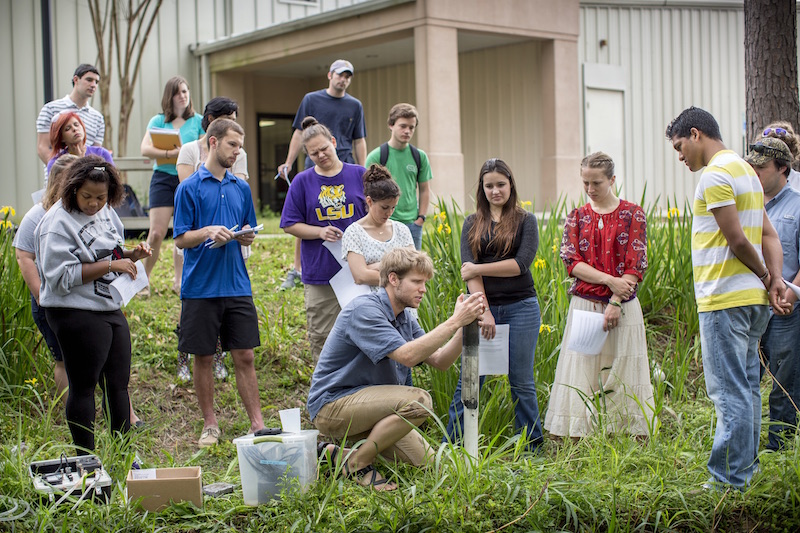
[{"label": "crouching blond man in blue-gray shirt and khaki shorts", "polygon": [[[352,442],[344,471],[376,490],[397,486],[374,468],[378,454],[422,466],[433,455],[416,428],[430,415],[428,391],[406,386],[411,367],[425,362],[446,370],[461,354],[461,328],[485,309],[482,293],[459,296],[453,315],[425,333],[416,309],[433,277],[425,252],[395,248],[381,260],[381,289],[342,309],[311,378],[308,411],[324,435]],[[338,452],[333,445],[323,452]]]}]

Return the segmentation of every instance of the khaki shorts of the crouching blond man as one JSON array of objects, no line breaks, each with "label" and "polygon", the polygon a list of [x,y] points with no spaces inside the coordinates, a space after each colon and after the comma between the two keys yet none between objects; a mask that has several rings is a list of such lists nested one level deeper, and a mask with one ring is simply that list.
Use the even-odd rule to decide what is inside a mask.
[{"label": "khaki shorts of the crouching blond man", "polygon": [[[429,416],[432,408],[433,401],[426,390],[405,385],[373,385],[325,404],[314,418],[314,425],[324,435],[340,440],[347,435],[349,442],[357,442],[367,438],[375,424],[387,416],[420,419]],[[408,434],[380,453],[389,460],[414,466],[427,464],[434,454],[413,425]]]}]

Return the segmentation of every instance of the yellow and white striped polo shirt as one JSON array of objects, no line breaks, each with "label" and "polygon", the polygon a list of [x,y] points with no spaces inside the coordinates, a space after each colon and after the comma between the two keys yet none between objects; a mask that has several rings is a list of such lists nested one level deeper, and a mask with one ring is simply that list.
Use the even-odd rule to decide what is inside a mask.
[{"label": "yellow and white striped polo shirt", "polygon": [[735,205],[747,240],[761,260],[764,192],[753,168],[732,150],[711,158],[694,193],[692,267],[699,312],[766,305],[764,284],[728,246],[712,211]]}]

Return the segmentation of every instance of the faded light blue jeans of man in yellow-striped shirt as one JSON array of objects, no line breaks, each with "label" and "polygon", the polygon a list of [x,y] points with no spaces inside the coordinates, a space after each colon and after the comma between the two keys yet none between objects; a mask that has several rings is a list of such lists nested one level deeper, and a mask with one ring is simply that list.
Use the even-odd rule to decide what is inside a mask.
[{"label": "faded light blue jeans of man in yellow-striped shirt", "polygon": [[699,316],[706,390],[717,411],[708,470],[715,481],[744,488],[758,464],[758,341],[769,311],[766,305],[746,305]]}]

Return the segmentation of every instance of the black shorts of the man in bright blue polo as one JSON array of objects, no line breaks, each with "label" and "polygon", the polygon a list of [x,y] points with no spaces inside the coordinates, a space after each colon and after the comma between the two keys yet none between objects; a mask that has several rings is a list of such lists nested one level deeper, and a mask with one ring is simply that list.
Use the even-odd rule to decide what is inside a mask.
[{"label": "black shorts of the man in bright blue polo", "polygon": [[258,314],[251,296],[181,301],[178,351],[213,355],[217,351],[217,337],[226,351],[261,345]]}]

